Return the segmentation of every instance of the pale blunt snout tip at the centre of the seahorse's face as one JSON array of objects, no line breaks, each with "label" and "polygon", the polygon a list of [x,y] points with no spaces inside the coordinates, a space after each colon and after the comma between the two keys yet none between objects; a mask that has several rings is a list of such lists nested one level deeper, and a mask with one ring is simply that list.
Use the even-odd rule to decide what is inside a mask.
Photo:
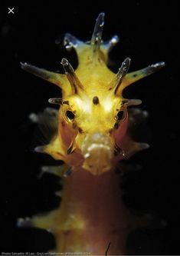
[{"label": "pale blunt snout tip at the centre of the seahorse's face", "polygon": [[101,175],[112,168],[113,146],[110,137],[101,132],[87,135],[83,141],[83,168],[93,175]]}]

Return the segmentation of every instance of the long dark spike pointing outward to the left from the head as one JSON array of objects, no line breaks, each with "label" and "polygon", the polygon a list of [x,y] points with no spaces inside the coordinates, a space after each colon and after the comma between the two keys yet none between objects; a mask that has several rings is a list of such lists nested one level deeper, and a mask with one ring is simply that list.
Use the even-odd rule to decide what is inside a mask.
[{"label": "long dark spike pointing outward to the left from the head", "polygon": [[44,68],[38,68],[33,65],[29,65],[27,63],[21,63],[21,68],[29,73],[38,76],[39,78],[43,78],[44,80],[50,81],[54,85],[61,87],[61,74],[47,71]]}]

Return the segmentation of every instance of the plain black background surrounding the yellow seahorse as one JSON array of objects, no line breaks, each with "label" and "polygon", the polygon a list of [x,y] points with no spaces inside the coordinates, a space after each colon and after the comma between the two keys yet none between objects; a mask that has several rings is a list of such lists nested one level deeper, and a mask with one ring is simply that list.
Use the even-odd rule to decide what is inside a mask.
[{"label": "plain black background surrounding the yellow seahorse", "polygon": [[[8,7],[15,14],[8,15]],[[0,251],[46,251],[54,246],[48,232],[19,229],[16,220],[56,208],[54,191],[57,178],[37,178],[41,165],[53,164],[47,156],[34,154],[43,144],[35,125],[28,121],[31,112],[50,106],[48,98],[61,92],[46,81],[22,71],[19,62],[28,62],[53,71],[61,71],[61,58],[76,67],[74,53],[55,44],[70,32],[90,40],[93,25],[105,12],[103,38],[119,35],[119,44],[111,53],[113,70],[124,58],[132,59],[129,71],[164,61],[161,71],[139,81],[125,92],[129,98],[141,98],[149,111],[151,148],[133,157],[142,171],[126,175],[125,203],[139,212],[152,212],[165,220],[165,228],[136,231],[129,239],[136,254],[180,254],[179,201],[179,18],[175,2],[120,1],[107,4],[58,2],[51,6],[30,4],[1,8],[1,239]],[[133,244],[133,245],[132,245]]]}]

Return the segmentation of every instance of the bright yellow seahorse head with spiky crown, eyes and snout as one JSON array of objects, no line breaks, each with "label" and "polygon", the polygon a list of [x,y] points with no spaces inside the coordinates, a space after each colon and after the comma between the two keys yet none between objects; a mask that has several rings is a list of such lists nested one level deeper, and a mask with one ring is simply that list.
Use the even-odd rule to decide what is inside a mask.
[{"label": "bright yellow seahorse head with spiky crown, eyes and snout", "polygon": [[77,52],[75,71],[66,58],[61,60],[64,75],[21,64],[25,70],[51,81],[62,91],[62,98],[49,100],[60,105],[60,109],[58,135],[47,146],[47,153],[69,165],[81,165],[93,175],[110,171],[124,155],[129,157],[141,148],[127,135],[127,108],[141,101],[123,98],[123,89],[164,65],[160,62],[128,74],[130,58],[126,58],[119,71],[113,73],[107,67],[108,54],[118,37],[102,41],[103,18],[104,14],[100,13],[90,42],[65,35],[64,46]]}]

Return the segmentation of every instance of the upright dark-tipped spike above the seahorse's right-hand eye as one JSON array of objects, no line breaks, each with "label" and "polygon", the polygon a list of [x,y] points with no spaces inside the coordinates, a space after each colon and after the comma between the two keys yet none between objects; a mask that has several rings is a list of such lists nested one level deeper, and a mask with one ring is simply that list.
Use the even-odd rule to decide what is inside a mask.
[{"label": "upright dark-tipped spike above the seahorse's right-hand eye", "polygon": [[126,58],[125,61],[122,63],[121,67],[119,68],[118,73],[116,74],[115,80],[113,81],[113,88],[115,88],[115,91],[114,91],[115,94],[117,94],[118,88],[121,85],[123,78],[127,74],[130,62],[131,62],[131,59]]}]

